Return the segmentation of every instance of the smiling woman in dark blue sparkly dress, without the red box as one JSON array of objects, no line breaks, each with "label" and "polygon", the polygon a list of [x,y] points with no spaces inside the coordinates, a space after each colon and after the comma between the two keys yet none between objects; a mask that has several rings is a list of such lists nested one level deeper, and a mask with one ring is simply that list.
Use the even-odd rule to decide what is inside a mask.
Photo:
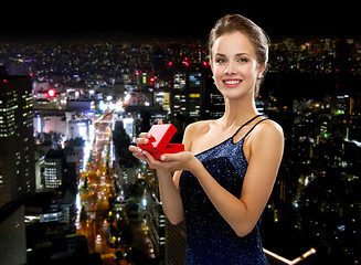
[{"label": "smiling woman in dark blue sparkly dress, without the red box", "polygon": [[[220,119],[185,128],[184,152],[155,160],[163,211],[172,224],[185,219],[185,264],[267,264],[258,226],[284,149],[283,130],[255,107],[268,57],[268,40],[251,20],[220,19],[210,33],[210,62],[224,96]],[[140,134],[137,145],[151,136]],[[174,174],[172,174],[172,172]]]}]

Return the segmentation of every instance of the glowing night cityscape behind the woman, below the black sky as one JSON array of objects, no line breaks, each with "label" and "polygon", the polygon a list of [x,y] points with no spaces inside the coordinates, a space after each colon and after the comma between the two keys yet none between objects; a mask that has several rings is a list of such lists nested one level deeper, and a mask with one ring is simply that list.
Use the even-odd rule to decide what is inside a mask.
[{"label": "glowing night cityscape behind the woman, below the black sky", "polygon": [[[170,258],[185,229],[168,226],[157,174],[128,146],[158,120],[177,124],[181,141],[188,124],[222,117],[206,43],[0,43],[0,67],[19,73],[0,75],[0,150],[13,158],[0,161],[0,186],[12,179],[11,189],[35,194],[13,225],[25,222],[24,255],[53,244],[41,223],[64,241],[85,236],[84,253],[104,261]],[[360,77],[357,38],[270,43],[255,107],[283,126],[286,149],[263,213],[269,261],[361,263]]]}]

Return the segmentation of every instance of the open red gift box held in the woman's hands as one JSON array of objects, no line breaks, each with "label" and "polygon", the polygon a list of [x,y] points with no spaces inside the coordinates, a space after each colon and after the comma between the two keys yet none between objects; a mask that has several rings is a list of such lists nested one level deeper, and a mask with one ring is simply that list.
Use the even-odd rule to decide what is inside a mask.
[{"label": "open red gift box held in the woman's hands", "polygon": [[182,144],[169,144],[177,129],[171,124],[153,125],[149,134],[151,138],[147,145],[139,145],[139,148],[149,152],[155,159],[160,160],[163,153],[176,153],[184,151]]}]

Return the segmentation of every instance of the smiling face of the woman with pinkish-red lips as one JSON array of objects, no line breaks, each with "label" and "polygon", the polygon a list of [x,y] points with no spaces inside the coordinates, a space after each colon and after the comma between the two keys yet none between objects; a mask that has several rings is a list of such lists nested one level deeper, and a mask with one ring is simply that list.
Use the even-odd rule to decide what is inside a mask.
[{"label": "smiling face of the woman with pinkish-red lips", "polygon": [[221,35],[212,47],[212,71],[219,91],[227,98],[254,96],[257,77],[265,70],[256,62],[248,38],[236,31]]}]

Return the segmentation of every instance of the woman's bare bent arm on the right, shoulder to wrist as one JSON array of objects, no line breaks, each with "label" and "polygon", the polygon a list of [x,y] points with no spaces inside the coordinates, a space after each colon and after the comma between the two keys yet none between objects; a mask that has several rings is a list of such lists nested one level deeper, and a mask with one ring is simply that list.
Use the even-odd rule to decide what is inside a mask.
[{"label": "woman's bare bent arm on the right, shoulder to wrist", "polygon": [[[258,221],[270,195],[284,149],[282,128],[274,123],[255,130],[249,147],[249,161],[241,198],[221,187],[204,169],[194,167],[198,178],[213,205],[238,236],[248,234]],[[261,128],[261,126],[259,126]]]}]

